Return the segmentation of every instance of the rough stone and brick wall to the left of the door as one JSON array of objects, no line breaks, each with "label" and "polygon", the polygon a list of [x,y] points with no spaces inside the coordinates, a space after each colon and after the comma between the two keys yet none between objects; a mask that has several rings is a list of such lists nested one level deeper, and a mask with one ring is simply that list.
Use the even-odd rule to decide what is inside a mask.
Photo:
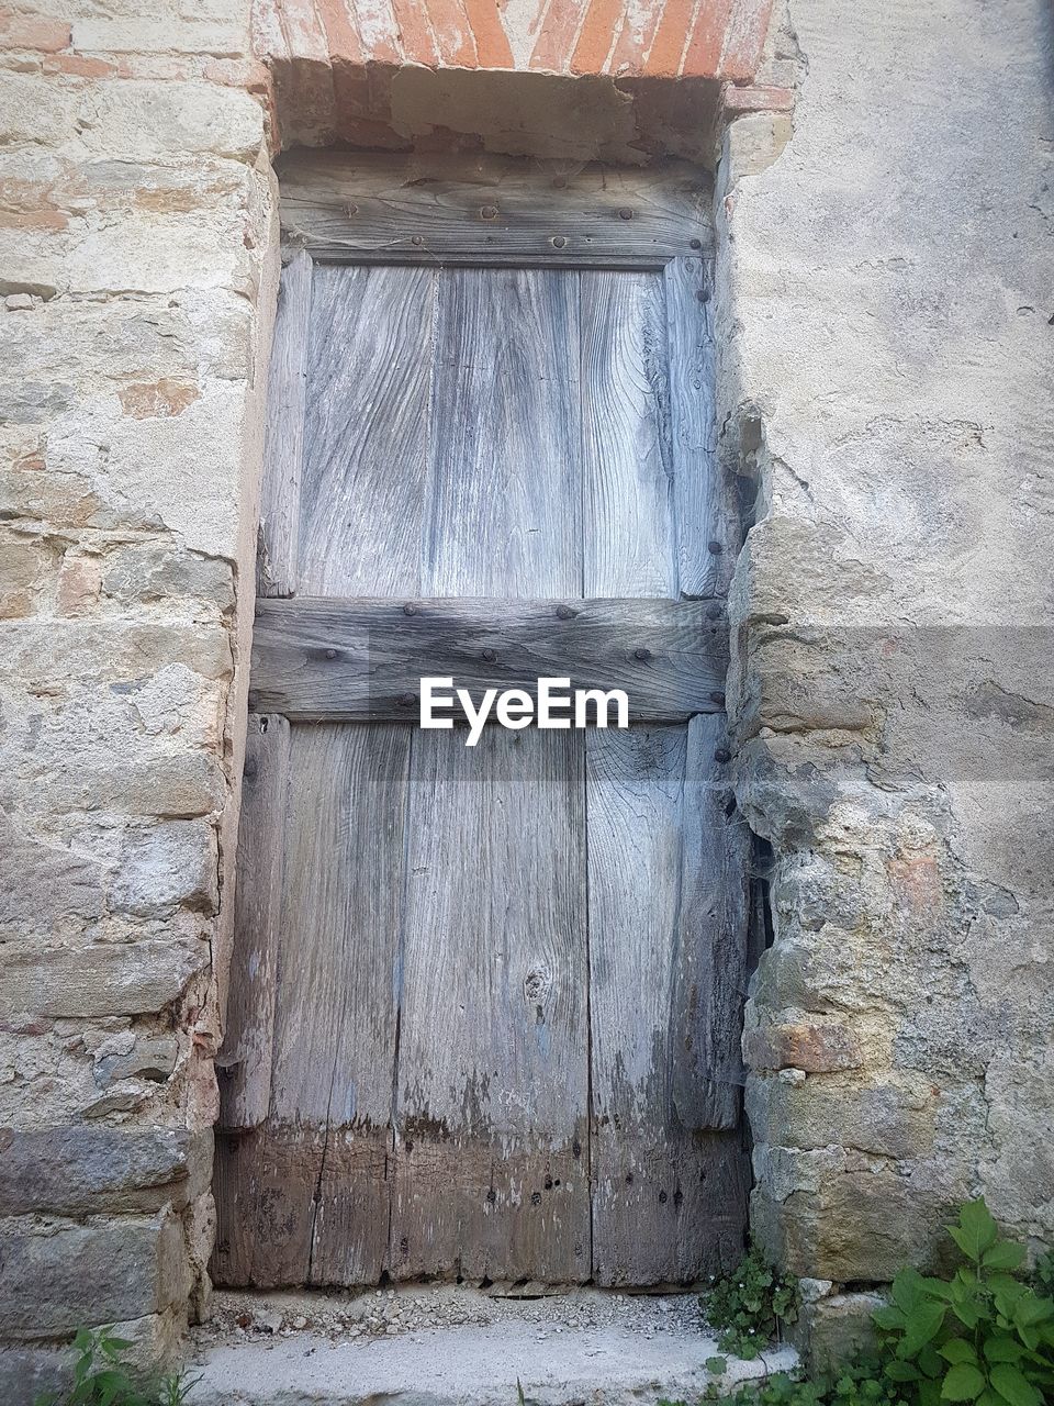
[{"label": "rough stone and brick wall to the left of the door", "polygon": [[275,229],[246,6],[0,22],[10,1403],[80,1324],[163,1353],[205,1289]]}]

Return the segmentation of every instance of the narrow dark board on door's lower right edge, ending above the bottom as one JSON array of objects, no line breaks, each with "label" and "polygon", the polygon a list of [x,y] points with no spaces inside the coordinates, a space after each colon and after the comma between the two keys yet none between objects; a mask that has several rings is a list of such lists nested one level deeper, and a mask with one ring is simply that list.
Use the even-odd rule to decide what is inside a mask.
[{"label": "narrow dark board on door's lower right edge, ending above the bottom", "polygon": [[683,1035],[672,1080],[686,1128],[736,1128],[742,1118],[750,832],[735,810],[722,714],[687,725],[682,900],[675,948],[673,1028]]}]

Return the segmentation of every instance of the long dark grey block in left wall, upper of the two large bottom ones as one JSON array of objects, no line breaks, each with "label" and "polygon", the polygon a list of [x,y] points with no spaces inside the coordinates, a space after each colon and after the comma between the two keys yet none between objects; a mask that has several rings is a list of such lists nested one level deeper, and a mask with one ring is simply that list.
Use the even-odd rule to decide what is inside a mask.
[{"label": "long dark grey block in left wall, upper of the two large bottom ones", "polygon": [[0,1129],[0,1215],[96,1215],[183,1205],[190,1135],[167,1129]]}]

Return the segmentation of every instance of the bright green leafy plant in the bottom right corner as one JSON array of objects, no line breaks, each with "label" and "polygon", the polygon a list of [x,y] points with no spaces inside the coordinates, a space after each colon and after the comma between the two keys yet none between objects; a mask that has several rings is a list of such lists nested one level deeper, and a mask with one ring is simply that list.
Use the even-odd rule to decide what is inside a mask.
[{"label": "bright green leafy plant in the bottom right corner", "polygon": [[947,1279],[902,1270],[874,1320],[891,1357],[885,1376],[918,1406],[1043,1406],[1054,1399],[1054,1299],[1017,1272],[1024,1250],[999,1239],[984,1201],[949,1232],[965,1263]]}]

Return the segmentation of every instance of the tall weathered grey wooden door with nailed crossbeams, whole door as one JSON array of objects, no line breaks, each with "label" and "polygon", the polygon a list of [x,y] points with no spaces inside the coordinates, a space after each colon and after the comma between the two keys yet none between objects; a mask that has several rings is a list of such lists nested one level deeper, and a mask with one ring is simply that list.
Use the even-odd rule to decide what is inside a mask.
[{"label": "tall weathered grey wooden door with nailed crossbeams, whole door", "polygon": [[[282,173],[214,1272],[690,1282],[745,1223],[705,193]],[[627,731],[423,731],[419,679]]]}]

